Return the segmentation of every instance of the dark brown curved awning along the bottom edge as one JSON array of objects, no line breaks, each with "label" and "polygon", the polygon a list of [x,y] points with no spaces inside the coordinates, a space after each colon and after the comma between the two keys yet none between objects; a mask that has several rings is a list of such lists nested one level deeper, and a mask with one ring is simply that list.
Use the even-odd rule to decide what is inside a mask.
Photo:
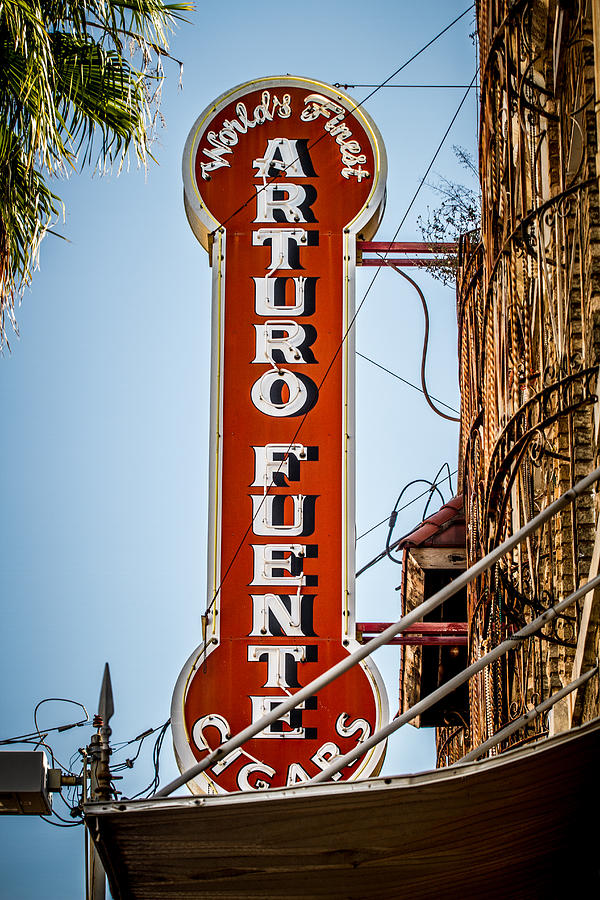
[{"label": "dark brown curved awning along the bottom edge", "polygon": [[591,897],[599,751],[596,719],[452,769],[88,804],[85,821],[115,900]]}]

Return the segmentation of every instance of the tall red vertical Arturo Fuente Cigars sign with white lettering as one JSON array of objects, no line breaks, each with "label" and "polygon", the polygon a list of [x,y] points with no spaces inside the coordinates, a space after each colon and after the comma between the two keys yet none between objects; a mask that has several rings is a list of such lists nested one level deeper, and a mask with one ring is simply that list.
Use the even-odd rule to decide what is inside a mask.
[{"label": "tall red vertical Arturo Fuente Cigars sign with white lettering", "polygon": [[[182,769],[356,648],[356,238],[386,161],[370,118],[305,78],[265,78],[197,120],[183,159],[213,269],[211,479],[203,635],[173,697]],[[198,776],[194,791],[307,781],[387,717],[364,661]],[[376,773],[372,748],[337,777]]]}]

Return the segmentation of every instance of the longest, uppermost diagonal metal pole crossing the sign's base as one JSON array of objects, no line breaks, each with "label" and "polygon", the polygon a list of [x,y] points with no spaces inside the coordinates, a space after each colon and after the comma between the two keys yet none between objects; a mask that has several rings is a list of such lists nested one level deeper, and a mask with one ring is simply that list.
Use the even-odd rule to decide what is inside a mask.
[{"label": "longest, uppermost diagonal metal pole crossing the sign's base", "polygon": [[[321,688],[326,687],[332,681],[335,681],[336,678],[339,678],[340,675],[343,675],[349,669],[356,665],[356,663],[365,659],[365,657],[369,656],[379,647],[382,647],[384,644],[387,644],[393,637],[400,632],[404,631],[408,625],[412,625],[414,622],[419,622],[424,616],[428,615],[434,609],[437,609],[438,606],[441,606],[449,597],[452,597],[454,594],[458,593],[458,591],[462,590],[467,584],[470,584],[471,581],[474,581],[479,575],[482,575],[489,568],[491,568],[505,553],[509,550],[512,550],[517,544],[519,544],[522,540],[536,531],[541,525],[551,519],[559,510],[566,506],[568,503],[571,503],[580,494],[583,494],[595,481],[600,479],[600,468],[594,469],[593,472],[590,472],[585,478],[582,478],[581,481],[577,482],[577,484],[573,485],[568,491],[566,491],[561,497],[551,503],[546,509],[542,510],[542,512],[538,513],[531,521],[527,522],[522,528],[520,528],[515,534],[513,534],[510,538],[507,538],[502,544],[492,550],[487,556],[484,556],[483,559],[480,559],[474,565],[471,566],[470,569],[467,569],[466,572],[463,572],[457,578],[454,579],[450,584],[443,587],[437,594],[434,594],[433,597],[430,597],[429,600],[425,600],[419,606],[415,607],[415,609],[411,610],[407,615],[403,616],[397,622],[394,622],[389,628],[386,628],[385,631],[382,631],[378,637],[373,638],[369,641],[368,644],[364,644],[362,647],[359,647],[358,650],[355,650],[353,653],[350,653],[346,659],[341,660],[339,663],[336,663],[335,666],[332,666],[327,672],[324,672],[318,678],[315,678],[314,681],[311,681],[310,684],[307,684],[305,687],[300,688],[299,691],[296,691],[295,694],[292,694],[286,700],[282,700],[282,702],[270,713],[266,713],[264,716],[261,716],[260,719],[257,719],[251,725],[248,725],[247,728],[244,728],[243,731],[240,731],[237,735],[230,738],[221,744],[220,747],[217,747],[216,750],[212,750],[204,759],[196,763],[196,765],[191,766],[187,769],[182,775],[178,778],[174,778],[173,781],[170,781],[169,784],[165,785],[165,787],[161,788],[160,791],[157,791],[154,794],[154,797],[168,797],[169,794],[172,794],[173,791],[177,790],[177,788],[181,787],[183,784],[186,784],[188,781],[191,781],[192,778],[195,778],[196,775],[199,775],[201,772],[204,772],[205,769],[210,768],[210,766],[214,765],[214,763],[218,762],[223,757],[227,756],[228,753],[231,753],[232,750],[236,750],[238,747],[241,747],[246,741],[250,740],[250,738],[255,737],[260,731],[266,728],[268,725],[271,725],[273,722],[276,722],[290,710],[294,709],[298,706],[299,703],[302,703],[304,700],[307,700],[308,697],[313,696],[320,691]],[[397,720],[396,720],[397,721]],[[377,732],[381,734],[381,732]],[[372,738],[370,739],[372,740]],[[375,741],[377,743],[377,741]],[[359,753],[358,756],[361,756],[362,753],[365,752],[366,742],[363,742],[359,745]],[[344,763],[345,765],[345,763]],[[329,771],[328,769],[325,771]],[[337,771],[337,769],[335,770]],[[322,781],[321,775],[317,776],[319,781]],[[314,779],[313,779],[314,780]],[[308,782],[307,782],[308,783]]]}]

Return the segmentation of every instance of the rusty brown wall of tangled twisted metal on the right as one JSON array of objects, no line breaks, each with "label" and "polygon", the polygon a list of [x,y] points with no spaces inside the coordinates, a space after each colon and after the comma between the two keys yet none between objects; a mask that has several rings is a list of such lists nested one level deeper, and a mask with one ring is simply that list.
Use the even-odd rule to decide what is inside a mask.
[{"label": "rusty brown wall of tangled twisted metal on the right", "polygon": [[[461,240],[457,281],[469,565],[593,468],[600,347],[591,6],[483,0],[477,17],[481,242]],[[578,499],[469,589],[473,659],[585,579],[597,518]],[[564,681],[579,615],[476,679],[469,727],[438,733],[440,764]]]}]

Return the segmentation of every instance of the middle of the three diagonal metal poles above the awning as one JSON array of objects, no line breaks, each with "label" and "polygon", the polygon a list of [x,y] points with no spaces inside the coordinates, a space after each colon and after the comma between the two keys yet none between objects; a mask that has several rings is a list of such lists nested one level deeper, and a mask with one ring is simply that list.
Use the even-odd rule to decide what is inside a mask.
[{"label": "middle of the three diagonal metal poles above the awning", "polygon": [[462,672],[455,675],[450,681],[447,681],[441,687],[437,688],[437,690],[428,694],[423,700],[420,700],[418,703],[415,703],[414,706],[411,706],[410,709],[407,709],[407,711],[402,713],[401,716],[398,716],[397,719],[393,719],[387,725],[384,725],[383,728],[380,728],[379,731],[372,734],[370,738],[361,741],[353,750],[350,750],[343,756],[336,757],[335,762],[330,763],[326,769],[323,769],[322,772],[319,772],[318,775],[315,775],[314,778],[311,778],[310,781],[305,782],[305,784],[318,784],[321,781],[327,781],[332,775],[335,775],[336,772],[339,772],[349,763],[354,762],[355,759],[358,759],[366,753],[367,750],[370,750],[371,747],[374,747],[375,744],[379,744],[380,741],[385,740],[390,734],[393,734],[403,725],[406,725],[407,722],[410,722],[412,719],[416,718],[416,716],[421,715],[425,710],[434,706],[438,700],[451,694],[452,691],[456,690],[457,687],[460,687],[461,684],[464,684],[465,681],[468,681],[473,675],[476,675],[477,672],[485,669],[491,662],[495,662],[495,660],[503,656],[507,650],[512,650],[514,647],[518,646],[521,641],[525,640],[525,638],[535,634],[535,632],[539,631],[543,625],[547,622],[551,622],[552,619],[559,616],[563,610],[571,605],[571,603],[579,600],[580,597],[583,597],[588,591],[593,590],[597,585],[600,585],[600,575],[592,578],[591,581],[582,585],[574,593],[565,597],[564,600],[551,606],[550,609],[545,610],[537,617],[537,619],[534,619],[528,625],[525,625],[524,628],[521,628],[521,630],[513,634],[512,637],[502,641],[501,644],[498,644],[497,647],[494,647],[494,649],[490,650],[489,653],[486,653],[485,656],[482,656],[476,662],[471,663],[470,666],[467,666],[466,669],[463,669]]}]

